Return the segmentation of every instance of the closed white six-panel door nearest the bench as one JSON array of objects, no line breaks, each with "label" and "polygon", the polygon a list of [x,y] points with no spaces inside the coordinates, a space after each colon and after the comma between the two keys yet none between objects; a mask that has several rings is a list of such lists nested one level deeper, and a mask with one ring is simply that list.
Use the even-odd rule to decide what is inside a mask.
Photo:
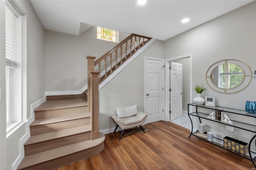
[{"label": "closed white six-panel door nearest the bench", "polygon": [[145,58],[144,112],[148,114],[146,123],[163,120],[163,65],[164,60]]}]

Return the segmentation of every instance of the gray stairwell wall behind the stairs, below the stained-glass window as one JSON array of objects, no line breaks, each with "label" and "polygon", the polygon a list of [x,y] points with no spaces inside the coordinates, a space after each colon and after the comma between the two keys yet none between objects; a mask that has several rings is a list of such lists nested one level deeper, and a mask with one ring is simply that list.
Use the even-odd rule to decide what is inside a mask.
[{"label": "gray stairwell wall behind the stairs, below the stained-glass window", "polygon": [[[120,32],[120,41],[130,33]],[[80,90],[87,84],[86,56],[101,57],[118,43],[96,38],[96,26],[79,36],[46,30],[46,91]]]}]

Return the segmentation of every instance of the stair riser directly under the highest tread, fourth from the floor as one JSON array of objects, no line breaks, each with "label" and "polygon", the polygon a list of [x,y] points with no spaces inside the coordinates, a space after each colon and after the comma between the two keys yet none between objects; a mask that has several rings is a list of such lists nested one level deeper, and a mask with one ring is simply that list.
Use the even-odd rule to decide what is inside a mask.
[{"label": "stair riser directly under the highest tread, fourth from the floor", "polygon": [[88,113],[88,106],[72,107],[66,109],[54,109],[45,111],[35,111],[35,119],[57,118],[67,115],[75,115],[80,113]]}]

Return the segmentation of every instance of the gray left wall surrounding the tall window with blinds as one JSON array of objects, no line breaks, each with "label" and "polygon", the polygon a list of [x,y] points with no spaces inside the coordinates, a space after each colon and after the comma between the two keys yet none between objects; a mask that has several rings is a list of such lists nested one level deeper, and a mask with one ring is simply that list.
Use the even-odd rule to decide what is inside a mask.
[{"label": "gray left wall surrounding the tall window with blinds", "polygon": [[[1,12],[2,12],[2,8],[4,8],[4,3],[2,6],[2,2],[4,1],[0,1],[1,2]],[[23,94],[23,96],[26,96],[26,98],[24,100],[24,102],[27,103],[27,110],[26,113],[27,114],[27,119],[31,116],[30,113],[30,105],[33,104],[34,102],[44,98],[44,92],[45,92],[45,42],[44,42],[44,27],[41,23],[41,21],[39,20],[36,12],[34,11],[34,8],[32,6],[32,4],[30,3],[30,1],[26,0],[26,1],[17,1],[15,2],[15,4],[17,5],[18,9],[22,12],[23,15],[26,15],[26,46],[27,46],[27,51],[26,51],[26,68],[27,70],[24,70],[24,74],[22,75],[23,78],[25,78],[26,82],[25,84],[27,84],[27,93]],[[0,63],[1,63],[1,70],[0,70],[0,74],[1,74],[1,86],[5,86],[2,83],[4,82],[5,84],[5,75],[3,75],[3,67],[5,68],[5,64],[2,64],[2,61],[5,60],[5,54],[2,55],[2,41],[3,38],[5,39],[5,37],[2,37],[2,14],[1,14],[1,59],[0,59]],[[4,70],[5,72],[5,70]],[[2,88],[2,94],[5,94],[5,88]],[[0,103],[5,104],[5,95],[2,96],[2,102]],[[5,107],[5,106],[4,106]],[[4,108],[3,107],[3,108]],[[1,106],[1,113],[5,113],[5,108],[4,110],[2,110],[2,106]],[[1,116],[4,114],[1,114]],[[6,119],[0,119],[0,125],[5,124],[6,126]],[[5,133],[5,138],[6,138],[6,129],[1,127],[1,134]],[[20,126],[14,133],[12,133],[12,135],[10,135],[7,139],[6,139],[6,145],[4,145],[4,147],[6,147],[7,150],[7,154],[6,154],[6,168],[4,167],[4,163],[2,164],[1,162],[1,169],[3,168],[4,170],[10,170],[12,164],[14,163],[14,161],[16,160],[16,158],[19,156],[20,154],[20,143],[19,140],[25,135],[26,133],[26,123],[24,123],[22,126]],[[1,135],[2,136],[2,135]],[[1,142],[1,141],[0,141]],[[1,149],[2,149],[2,143],[1,144]],[[4,150],[3,150],[4,153]],[[1,155],[2,155],[2,150],[1,150]],[[5,160],[5,159],[3,159]],[[2,161],[2,157],[1,157],[1,161]],[[3,165],[3,166],[2,166]]]}]

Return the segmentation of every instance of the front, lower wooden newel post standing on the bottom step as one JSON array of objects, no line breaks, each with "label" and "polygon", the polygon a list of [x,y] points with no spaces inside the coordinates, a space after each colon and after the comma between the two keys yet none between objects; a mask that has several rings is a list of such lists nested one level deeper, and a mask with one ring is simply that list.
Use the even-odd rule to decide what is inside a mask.
[{"label": "front, lower wooden newel post standing on the bottom step", "polygon": [[91,139],[99,139],[99,71],[89,71],[90,74],[90,89],[88,98],[89,111],[91,113]]}]

